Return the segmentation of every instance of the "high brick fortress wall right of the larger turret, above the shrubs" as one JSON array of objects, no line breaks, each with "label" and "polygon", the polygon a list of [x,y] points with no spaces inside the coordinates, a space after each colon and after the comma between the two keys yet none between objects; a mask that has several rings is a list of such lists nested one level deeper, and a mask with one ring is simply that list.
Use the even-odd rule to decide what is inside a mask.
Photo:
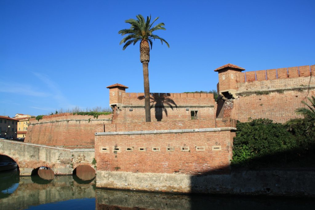
[{"label": "high brick fortress wall right of the larger turret, above the shrubs", "polygon": [[[281,123],[299,117],[295,109],[315,95],[314,72],[315,65],[238,72],[236,99],[224,101],[223,112],[217,116],[241,122],[249,117],[269,118]],[[218,107],[222,103],[218,101]]]}]

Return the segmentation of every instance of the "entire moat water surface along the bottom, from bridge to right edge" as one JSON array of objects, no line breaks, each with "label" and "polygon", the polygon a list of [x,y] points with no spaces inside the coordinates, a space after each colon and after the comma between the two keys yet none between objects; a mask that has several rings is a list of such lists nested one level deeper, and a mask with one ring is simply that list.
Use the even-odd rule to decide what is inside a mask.
[{"label": "entire moat water surface along the bottom, from bridge to right edge", "polygon": [[0,210],[10,209],[315,209],[315,199],[178,195],[95,188],[77,176],[20,177],[0,172]]}]

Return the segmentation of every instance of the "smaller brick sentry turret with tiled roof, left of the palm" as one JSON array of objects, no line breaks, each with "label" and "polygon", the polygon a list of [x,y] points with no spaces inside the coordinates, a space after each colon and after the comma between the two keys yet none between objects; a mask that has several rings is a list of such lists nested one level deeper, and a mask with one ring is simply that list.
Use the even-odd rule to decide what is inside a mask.
[{"label": "smaller brick sentry turret with tiled roof, left of the palm", "polygon": [[109,106],[111,106],[112,108],[117,106],[119,109],[121,109],[121,106],[123,104],[123,94],[126,93],[126,89],[128,87],[116,83],[107,86],[106,88],[109,88]]}]

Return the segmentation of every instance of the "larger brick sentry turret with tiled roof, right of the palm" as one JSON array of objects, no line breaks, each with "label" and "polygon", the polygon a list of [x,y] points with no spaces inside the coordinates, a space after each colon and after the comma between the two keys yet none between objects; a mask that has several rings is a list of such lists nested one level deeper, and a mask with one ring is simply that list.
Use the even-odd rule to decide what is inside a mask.
[{"label": "larger brick sentry turret with tiled roof, right of the palm", "polygon": [[226,64],[215,69],[214,71],[219,73],[219,83],[217,85],[219,95],[224,98],[235,98],[237,75],[244,70],[234,64]]}]

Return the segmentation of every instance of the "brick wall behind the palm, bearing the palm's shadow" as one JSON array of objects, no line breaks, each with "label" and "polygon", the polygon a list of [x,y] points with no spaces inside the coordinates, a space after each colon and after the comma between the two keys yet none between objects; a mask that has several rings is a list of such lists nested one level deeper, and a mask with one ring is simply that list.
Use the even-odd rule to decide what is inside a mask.
[{"label": "brick wall behind the palm, bearing the palm's shadow", "polygon": [[[115,111],[114,122],[144,122],[144,94],[123,93],[121,110]],[[191,120],[191,111],[197,111],[198,119],[212,119],[215,116],[213,94],[196,93],[152,93],[151,120]],[[188,110],[187,110],[188,109]]]}]

